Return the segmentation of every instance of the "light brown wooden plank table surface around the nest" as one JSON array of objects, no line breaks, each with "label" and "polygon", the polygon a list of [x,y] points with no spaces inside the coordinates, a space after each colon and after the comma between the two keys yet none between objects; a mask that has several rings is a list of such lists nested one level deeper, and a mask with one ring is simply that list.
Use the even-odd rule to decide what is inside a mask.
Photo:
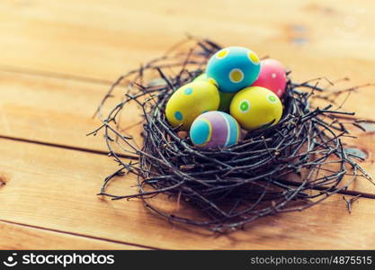
[{"label": "light brown wooden plank table surface around the nest", "polygon": [[[278,58],[298,81],[374,83],[374,15],[366,0],[0,1],[0,247],[375,248],[375,186],[364,180],[349,194],[245,231],[194,233],[141,202],[97,197],[116,164],[103,137],[85,137],[112,81],[187,32]],[[375,87],[367,87],[344,109],[375,121],[374,100]],[[372,175],[374,132],[369,124],[351,142],[366,151],[362,166]],[[343,195],[359,193],[348,213]]]}]

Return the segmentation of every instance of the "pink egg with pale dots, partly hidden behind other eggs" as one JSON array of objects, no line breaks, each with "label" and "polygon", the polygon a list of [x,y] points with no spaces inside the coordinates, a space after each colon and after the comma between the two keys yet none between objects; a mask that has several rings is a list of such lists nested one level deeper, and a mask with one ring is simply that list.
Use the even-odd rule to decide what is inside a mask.
[{"label": "pink egg with pale dots, partly hidden behind other eggs", "polygon": [[285,68],[275,59],[264,59],[261,61],[261,72],[252,86],[262,86],[270,89],[274,94],[281,97],[285,92],[287,76]]}]

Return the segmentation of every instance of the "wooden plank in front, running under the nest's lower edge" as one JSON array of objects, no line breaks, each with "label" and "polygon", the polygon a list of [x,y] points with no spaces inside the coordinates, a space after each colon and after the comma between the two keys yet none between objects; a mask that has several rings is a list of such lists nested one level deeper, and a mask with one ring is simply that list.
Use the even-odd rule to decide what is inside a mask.
[{"label": "wooden plank in front, running under the nest's lower edge", "polygon": [[[116,167],[108,157],[6,139],[0,140],[0,150],[6,183],[0,188],[3,220],[159,248],[375,247],[372,199],[354,202],[349,214],[338,194],[306,211],[267,217],[245,231],[215,236],[156,218],[138,201],[96,197],[103,176]],[[112,192],[129,193],[133,184],[130,177],[121,178],[112,183]]]}]

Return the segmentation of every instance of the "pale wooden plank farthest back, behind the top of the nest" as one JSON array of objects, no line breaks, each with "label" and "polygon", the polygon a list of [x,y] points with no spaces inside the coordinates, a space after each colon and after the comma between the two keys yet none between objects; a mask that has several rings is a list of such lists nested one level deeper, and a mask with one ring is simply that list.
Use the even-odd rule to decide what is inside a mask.
[{"label": "pale wooden plank farthest back, behind the top of the nest", "polygon": [[[273,12],[264,12],[270,6]],[[299,78],[369,81],[371,73],[365,71],[374,66],[374,10],[375,4],[365,0],[5,0],[0,49],[6,53],[0,64],[113,80],[190,32],[271,54]]]}]

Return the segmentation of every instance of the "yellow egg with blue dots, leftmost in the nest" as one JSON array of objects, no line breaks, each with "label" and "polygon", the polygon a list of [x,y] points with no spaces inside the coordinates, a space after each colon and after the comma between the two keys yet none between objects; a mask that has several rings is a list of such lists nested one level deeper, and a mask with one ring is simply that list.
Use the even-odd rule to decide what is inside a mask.
[{"label": "yellow egg with blue dots, leftmost in the nest", "polygon": [[202,112],[219,108],[219,90],[208,82],[183,85],[171,95],[165,106],[165,117],[173,128],[189,130]]}]

